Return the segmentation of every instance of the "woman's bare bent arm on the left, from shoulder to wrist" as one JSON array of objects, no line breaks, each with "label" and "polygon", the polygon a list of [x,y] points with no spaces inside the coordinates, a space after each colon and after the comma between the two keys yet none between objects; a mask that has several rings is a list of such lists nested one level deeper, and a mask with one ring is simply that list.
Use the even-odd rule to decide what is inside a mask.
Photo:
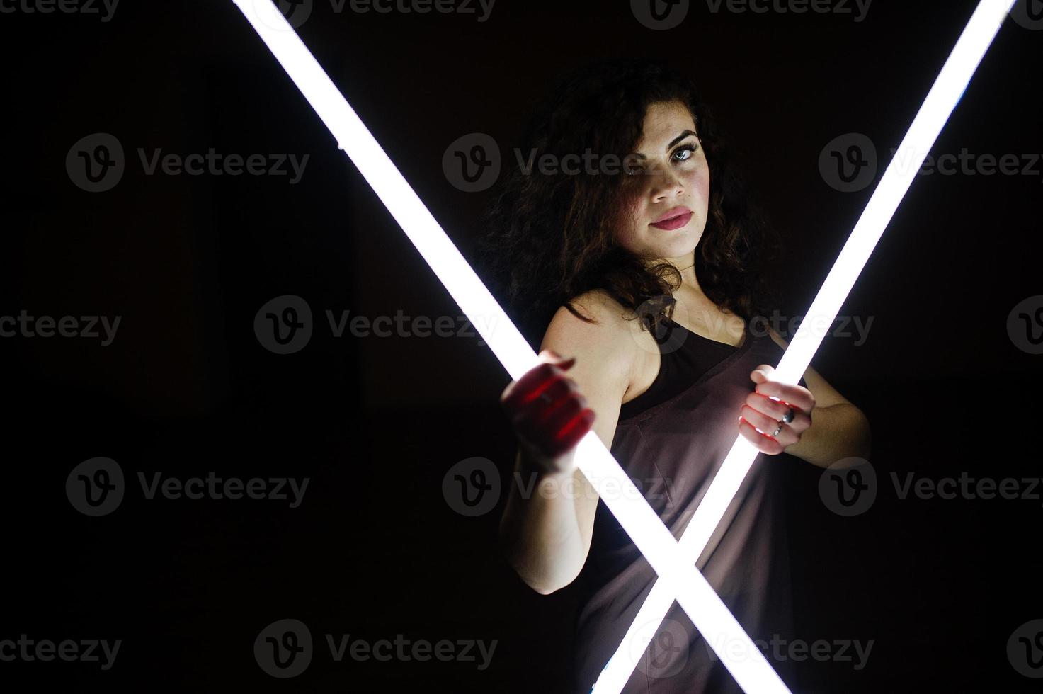
[{"label": "woman's bare bent arm on the left, from shoulder to wrist", "polygon": [[[595,411],[591,429],[606,447],[615,435],[635,346],[629,329],[612,314],[611,304],[600,300],[580,305],[580,311],[595,317],[597,325],[560,308],[540,345],[540,351],[576,357],[568,376]],[[573,582],[590,549],[598,493],[573,464],[574,455],[575,449],[568,454],[568,464],[558,465],[564,472],[548,473],[519,447],[518,474],[512,478],[500,523],[500,542],[508,563],[522,580],[543,595]]]}]

